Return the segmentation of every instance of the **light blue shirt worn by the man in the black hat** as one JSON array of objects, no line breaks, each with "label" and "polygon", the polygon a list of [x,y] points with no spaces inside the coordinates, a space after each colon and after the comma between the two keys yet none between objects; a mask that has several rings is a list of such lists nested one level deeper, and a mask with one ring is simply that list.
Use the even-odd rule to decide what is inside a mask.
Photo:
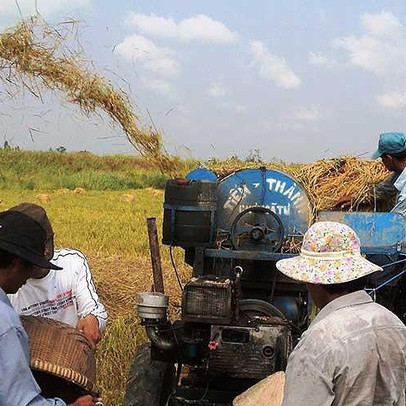
[{"label": "light blue shirt worn by the man in the black hat", "polygon": [[0,406],[66,406],[40,393],[29,367],[27,333],[0,288]]}]

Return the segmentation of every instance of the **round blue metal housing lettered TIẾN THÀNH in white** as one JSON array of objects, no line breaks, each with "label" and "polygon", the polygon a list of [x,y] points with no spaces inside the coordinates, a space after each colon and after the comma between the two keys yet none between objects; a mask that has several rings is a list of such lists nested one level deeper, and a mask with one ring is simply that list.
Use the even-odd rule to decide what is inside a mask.
[{"label": "round blue metal housing lettered TI\u1ebeN TH\u00c0NH in white", "polygon": [[230,231],[240,212],[256,206],[268,208],[280,217],[285,237],[303,235],[312,220],[306,192],[292,177],[265,168],[242,169],[218,183],[217,228]]}]

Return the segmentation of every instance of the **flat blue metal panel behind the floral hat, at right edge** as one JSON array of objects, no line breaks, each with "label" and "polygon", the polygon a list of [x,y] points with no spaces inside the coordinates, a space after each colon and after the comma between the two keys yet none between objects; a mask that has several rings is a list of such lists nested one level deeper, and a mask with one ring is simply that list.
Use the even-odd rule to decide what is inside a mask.
[{"label": "flat blue metal panel behind the floral hat, at right edge", "polygon": [[324,211],[318,214],[318,220],[350,226],[365,254],[406,254],[406,223],[399,213]]}]

